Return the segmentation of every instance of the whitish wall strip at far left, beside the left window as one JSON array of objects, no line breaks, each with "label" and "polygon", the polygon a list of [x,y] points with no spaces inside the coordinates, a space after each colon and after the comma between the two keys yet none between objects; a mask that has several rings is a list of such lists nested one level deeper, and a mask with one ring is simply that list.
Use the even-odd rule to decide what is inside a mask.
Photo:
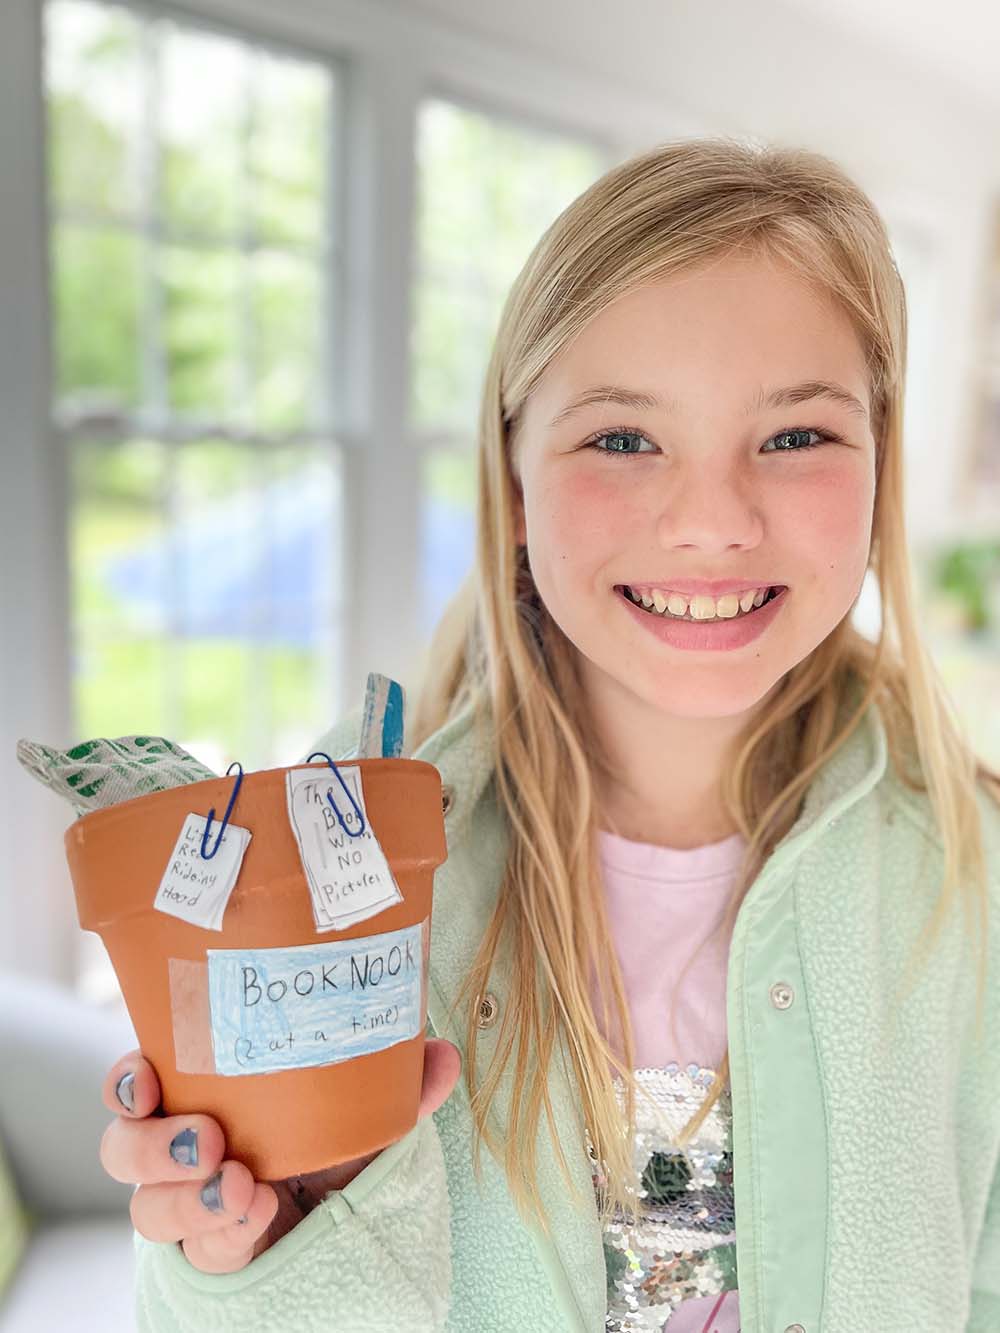
[{"label": "whitish wall strip at far left, beside the left window", "polygon": [[68,730],[61,469],[45,431],[37,9],[0,5],[0,966],[65,974],[64,804],[13,758]]}]

